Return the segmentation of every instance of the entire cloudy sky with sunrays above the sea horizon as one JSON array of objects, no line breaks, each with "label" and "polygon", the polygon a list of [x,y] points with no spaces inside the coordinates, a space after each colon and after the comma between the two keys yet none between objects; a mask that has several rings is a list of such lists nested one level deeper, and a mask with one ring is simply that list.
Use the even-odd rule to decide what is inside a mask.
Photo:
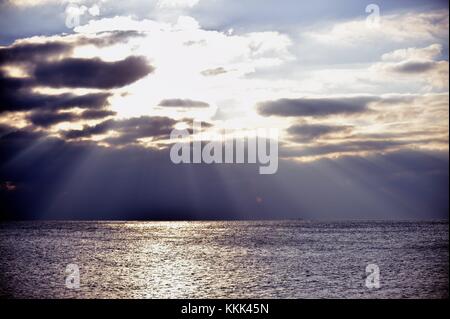
[{"label": "entire cloudy sky with sunrays above the sea horizon", "polygon": [[[0,219],[448,219],[448,37],[447,1],[0,0]],[[278,170],[173,163],[193,121]]]}]

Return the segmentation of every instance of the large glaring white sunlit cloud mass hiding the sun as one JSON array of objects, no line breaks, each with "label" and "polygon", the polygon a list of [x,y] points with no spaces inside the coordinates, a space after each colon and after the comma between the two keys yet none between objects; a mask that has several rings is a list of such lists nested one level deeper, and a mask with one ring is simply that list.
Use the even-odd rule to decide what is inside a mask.
[{"label": "large glaring white sunlit cloud mass hiding the sun", "polygon": [[[293,87],[281,84],[279,79],[245,76],[256,70],[277,68],[293,59],[289,50],[291,39],[279,32],[230,34],[204,30],[187,16],[179,17],[175,23],[115,17],[92,20],[75,28],[78,34],[90,37],[113,30],[135,30],[142,36],[131,38],[126,45],[78,48],[75,55],[104,60],[143,55],[155,66],[153,74],[127,88],[126,97],[116,98],[115,111],[123,116],[148,114],[152,106],[168,98],[189,98],[212,106],[233,98],[244,112],[252,112],[258,100],[269,98],[276,90]],[[223,72],[204,75],[205,70],[216,69]],[[146,101],[145,105],[142,101]]]}]

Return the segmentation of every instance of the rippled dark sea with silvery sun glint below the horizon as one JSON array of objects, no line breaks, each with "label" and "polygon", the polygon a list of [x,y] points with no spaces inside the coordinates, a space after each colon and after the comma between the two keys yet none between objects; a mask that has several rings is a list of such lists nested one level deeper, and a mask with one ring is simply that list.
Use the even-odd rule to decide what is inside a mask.
[{"label": "rippled dark sea with silvery sun glint below the horizon", "polygon": [[3,223],[0,296],[444,298],[448,244],[447,222]]}]

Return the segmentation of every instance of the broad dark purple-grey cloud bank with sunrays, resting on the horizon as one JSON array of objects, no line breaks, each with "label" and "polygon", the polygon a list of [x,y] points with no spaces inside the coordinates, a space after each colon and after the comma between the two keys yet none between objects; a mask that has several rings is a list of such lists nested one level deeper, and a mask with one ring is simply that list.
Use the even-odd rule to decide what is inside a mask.
[{"label": "broad dark purple-grey cloud bank with sunrays, resting on the horizon", "polygon": [[447,152],[281,160],[270,176],[26,131],[0,137],[0,154],[0,183],[17,185],[0,192],[3,219],[448,218]]}]

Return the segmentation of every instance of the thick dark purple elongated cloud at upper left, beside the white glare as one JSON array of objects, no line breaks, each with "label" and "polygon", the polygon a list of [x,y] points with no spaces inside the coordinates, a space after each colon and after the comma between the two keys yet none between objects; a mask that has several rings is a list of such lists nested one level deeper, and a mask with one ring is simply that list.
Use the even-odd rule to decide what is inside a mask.
[{"label": "thick dark purple elongated cloud at upper left, beside the white glare", "polygon": [[153,70],[145,58],[136,56],[117,62],[67,58],[37,65],[34,77],[40,85],[56,88],[112,89],[131,84]]}]

